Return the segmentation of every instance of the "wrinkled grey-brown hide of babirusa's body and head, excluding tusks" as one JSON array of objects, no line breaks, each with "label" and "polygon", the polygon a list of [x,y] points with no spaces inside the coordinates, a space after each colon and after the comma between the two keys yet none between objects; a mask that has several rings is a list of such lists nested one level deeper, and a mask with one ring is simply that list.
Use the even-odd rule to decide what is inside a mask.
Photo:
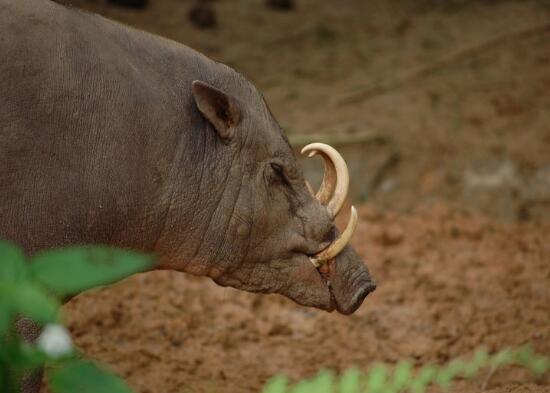
[{"label": "wrinkled grey-brown hide of babirusa's body and head, excluding tusks", "polygon": [[0,0],[0,238],[155,252],[349,314],[374,289],[361,259],[348,246],[323,274],[308,259],[335,235],[242,75],[97,15]]}]

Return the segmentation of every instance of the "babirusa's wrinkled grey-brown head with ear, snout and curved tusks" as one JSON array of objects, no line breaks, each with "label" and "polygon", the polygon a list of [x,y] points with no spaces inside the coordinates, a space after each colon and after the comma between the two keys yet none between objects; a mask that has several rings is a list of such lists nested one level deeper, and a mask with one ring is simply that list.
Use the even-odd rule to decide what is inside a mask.
[{"label": "babirusa's wrinkled grey-brown head with ear, snout and curved tusks", "polygon": [[171,258],[178,262],[168,267],[206,274],[223,286],[354,312],[375,285],[348,245],[355,209],[342,233],[334,225],[349,184],[344,160],[328,145],[304,148],[325,164],[314,194],[261,95],[244,82],[236,91],[192,84],[209,151],[196,166],[209,195],[208,201],[198,201],[200,212],[181,223],[189,229],[182,244],[200,245],[179,249]]}]

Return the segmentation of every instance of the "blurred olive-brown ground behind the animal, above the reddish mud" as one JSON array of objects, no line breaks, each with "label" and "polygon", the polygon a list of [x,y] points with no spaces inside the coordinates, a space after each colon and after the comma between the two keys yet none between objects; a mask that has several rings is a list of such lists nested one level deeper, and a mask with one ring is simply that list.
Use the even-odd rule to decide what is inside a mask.
[{"label": "blurred olive-brown ground behind the animal, above the reddish mud", "polygon": [[356,199],[550,218],[550,1],[63,2],[242,72],[297,146],[342,150]]}]

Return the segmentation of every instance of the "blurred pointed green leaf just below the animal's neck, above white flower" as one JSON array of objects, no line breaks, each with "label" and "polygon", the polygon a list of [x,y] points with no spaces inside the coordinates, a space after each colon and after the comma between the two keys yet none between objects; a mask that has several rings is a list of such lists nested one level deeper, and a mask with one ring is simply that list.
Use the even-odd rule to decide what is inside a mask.
[{"label": "blurred pointed green leaf just below the animal's neck, above white flower", "polygon": [[60,296],[107,285],[152,266],[152,257],[104,246],[75,246],[36,254],[32,276]]}]

